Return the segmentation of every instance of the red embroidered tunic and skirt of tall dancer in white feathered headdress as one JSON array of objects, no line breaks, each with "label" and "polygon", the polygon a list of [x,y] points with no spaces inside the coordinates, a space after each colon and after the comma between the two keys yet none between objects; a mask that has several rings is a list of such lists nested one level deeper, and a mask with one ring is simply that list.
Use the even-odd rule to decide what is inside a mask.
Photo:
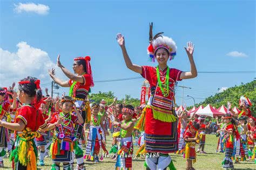
[{"label": "red embroidered tunic and skirt of tall dancer in white feathered headdress", "polygon": [[[165,81],[167,69],[159,69],[160,81]],[[151,89],[151,105],[163,114],[173,114],[174,84],[180,81],[180,70],[169,70],[169,95],[164,97],[157,80],[157,68],[142,66],[142,76],[149,81]],[[177,122],[163,122],[154,118],[151,108],[146,109],[145,150],[148,152],[172,153],[178,150]]]}]

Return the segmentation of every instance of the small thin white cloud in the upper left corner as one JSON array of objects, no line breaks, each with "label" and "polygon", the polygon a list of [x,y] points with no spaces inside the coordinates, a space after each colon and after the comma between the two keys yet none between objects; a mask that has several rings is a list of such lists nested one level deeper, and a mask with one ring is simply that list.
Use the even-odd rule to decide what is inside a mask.
[{"label": "small thin white cloud in the upper left corner", "polygon": [[46,15],[49,13],[49,6],[44,4],[34,4],[34,3],[18,3],[18,5],[14,4],[14,11],[17,13],[25,12],[35,12],[39,15]]}]

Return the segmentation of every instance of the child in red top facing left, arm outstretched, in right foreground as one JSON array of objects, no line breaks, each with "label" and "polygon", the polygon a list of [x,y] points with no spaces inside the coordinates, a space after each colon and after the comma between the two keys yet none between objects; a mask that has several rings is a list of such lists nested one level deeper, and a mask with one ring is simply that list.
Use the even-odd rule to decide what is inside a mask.
[{"label": "child in red top facing left, arm outstretched, in right foreground", "polygon": [[233,161],[231,159],[233,149],[234,149],[234,138],[239,139],[240,135],[237,130],[237,127],[235,126],[235,121],[232,118],[231,114],[225,114],[223,117],[225,120],[226,126],[225,129],[218,130],[218,132],[223,131],[225,133],[224,141],[225,141],[225,158],[222,162],[223,168],[234,168]]}]

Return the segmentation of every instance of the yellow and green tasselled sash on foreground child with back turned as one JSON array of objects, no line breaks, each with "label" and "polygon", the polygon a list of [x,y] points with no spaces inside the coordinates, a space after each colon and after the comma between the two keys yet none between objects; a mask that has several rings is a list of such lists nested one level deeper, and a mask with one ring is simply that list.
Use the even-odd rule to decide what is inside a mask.
[{"label": "yellow and green tasselled sash on foreground child with back turned", "polygon": [[23,133],[18,134],[21,142],[18,146],[18,160],[23,165],[26,166],[28,170],[37,169],[36,165],[36,155],[33,147],[32,140],[36,137],[41,136],[38,132],[32,132],[30,128],[23,130]]}]

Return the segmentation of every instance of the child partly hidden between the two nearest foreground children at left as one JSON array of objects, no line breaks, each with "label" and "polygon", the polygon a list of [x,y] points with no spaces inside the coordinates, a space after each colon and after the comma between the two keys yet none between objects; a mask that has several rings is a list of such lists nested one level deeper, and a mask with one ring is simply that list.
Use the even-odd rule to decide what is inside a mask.
[{"label": "child partly hidden between the two nearest foreground children at left", "polygon": [[[51,119],[52,112],[48,112],[49,114],[46,113],[46,102],[43,101],[41,103],[41,112],[44,117],[44,121],[48,123]],[[45,157],[45,146],[47,145],[47,141],[49,142],[49,136],[50,136],[51,131],[46,131],[46,132],[41,132],[41,137],[36,138],[37,140],[37,146],[39,152],[39,165],[44,166],[44,157]],[[48,137],[48,139],[47,139]],[[46,147],[47,148],[47,147]]]}]

